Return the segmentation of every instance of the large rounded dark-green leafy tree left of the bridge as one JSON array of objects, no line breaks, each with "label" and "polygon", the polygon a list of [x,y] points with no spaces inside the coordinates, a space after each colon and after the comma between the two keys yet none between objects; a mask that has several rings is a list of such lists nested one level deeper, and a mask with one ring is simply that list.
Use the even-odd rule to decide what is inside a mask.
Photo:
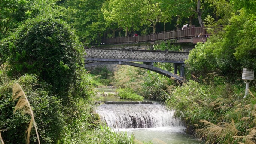
[{"label": "large rounded dark-green leafy tree left of the bridge", "polygon": [[0,44],[10,75],[36,74],[52,85],[52,92],[64,106],[70,107],[76,96],[88,98],[86,83],[81,85],[85,54],[82,43],[63,21],[32,19]]}]

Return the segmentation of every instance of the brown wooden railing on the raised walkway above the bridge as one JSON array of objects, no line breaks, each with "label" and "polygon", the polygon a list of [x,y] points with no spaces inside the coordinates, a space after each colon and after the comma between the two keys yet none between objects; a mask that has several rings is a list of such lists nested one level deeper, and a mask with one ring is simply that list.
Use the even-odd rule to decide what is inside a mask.
[{"label": "brown wooden railing on the raised walkway above the bridge", "polygon": [[187,27],[185,30],[176,29],[169,30],[166,32],[159,32],[147,36],[137,37],[116,37],[102,39],[102,44],[116,44],[116,43],[142,43],[142,42],[153,42],[157,40],[171,40],[171,39],[189,39],[193,37],[208,37],[209,34],[206,32],[204,27]]}]

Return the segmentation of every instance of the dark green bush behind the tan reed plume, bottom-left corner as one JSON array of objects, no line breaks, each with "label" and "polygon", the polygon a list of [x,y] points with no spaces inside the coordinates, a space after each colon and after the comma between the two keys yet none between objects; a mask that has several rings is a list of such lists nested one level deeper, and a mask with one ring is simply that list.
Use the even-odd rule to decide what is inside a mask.
[{"label": "dark green bush behind the tan reed plume, bottom-left corner", "polygon": [[[12,87],[19,83],[33,108],[37,131],[42,144],[52,144],[63,135],[64,116],[62,106],[55,96],[49,96],[51,85],[39,82],[35,75],[26,75],[18,80],[10,80],[5,72],[0,73],[0,129],[6,144],[25,144],[25,131],[30,122],[30,115],[23,110],[13,113],[18,100],[12,101]],[[32,128],[30,144],[37,143],[36,132]]]}]

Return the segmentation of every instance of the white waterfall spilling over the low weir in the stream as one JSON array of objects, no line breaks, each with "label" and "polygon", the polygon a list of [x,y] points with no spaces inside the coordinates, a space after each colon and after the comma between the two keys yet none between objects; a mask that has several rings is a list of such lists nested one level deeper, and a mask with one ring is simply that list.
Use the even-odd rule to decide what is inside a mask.
[{"label": "white waterfall spilling over the low weir in the stream", "polygon": [[173,117],[173,111],[155,104],[100,105],[96,109],[101,120],[111,128],[154,128],[182,126],[179,119]]}]

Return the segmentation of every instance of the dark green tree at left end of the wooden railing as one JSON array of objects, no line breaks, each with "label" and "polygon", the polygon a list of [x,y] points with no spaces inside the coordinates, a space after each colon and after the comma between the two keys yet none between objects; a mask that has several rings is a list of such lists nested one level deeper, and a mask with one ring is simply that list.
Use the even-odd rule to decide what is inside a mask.
[{"label": "dark green tree at left end of the wooden railing", "polygon": [[63,19],[76,30],[76,34],[85,45],[101,43],[103,33],[106,31],[101,7],[105,0],[72,0],[64,6]]}]

